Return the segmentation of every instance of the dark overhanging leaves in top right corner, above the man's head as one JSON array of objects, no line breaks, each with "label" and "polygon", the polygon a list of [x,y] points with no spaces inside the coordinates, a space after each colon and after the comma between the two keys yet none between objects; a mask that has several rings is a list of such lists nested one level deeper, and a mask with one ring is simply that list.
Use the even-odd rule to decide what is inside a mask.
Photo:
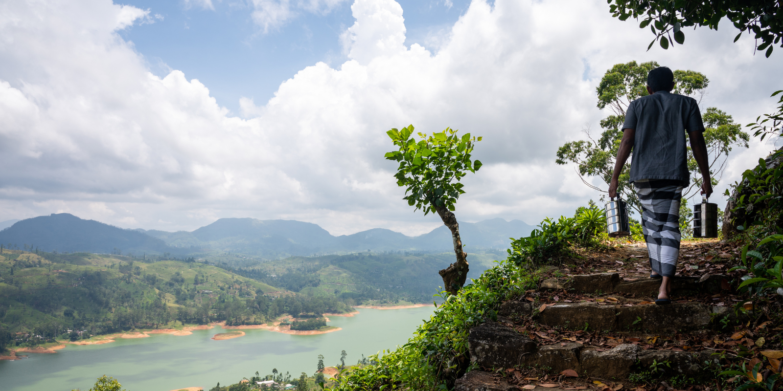
[{"label": "dark overhanging leaves in top right corner, above the man's head", "polygon": [[[717,30],[718,23],[727,17],[740,30],[736,42],[743,32],[753,34],[757,50],[767,49],[772,54],[773,45],[781,43],[783,36],[783,13],[779,0],[608,0],[609,11],[619,20],[630,17],[643,19],[640,28],[650,27],[662,48],[669,43],[682,45],[685,41],[683,27],[700,26]],[[781,44],[783,47],[783,44]]]}]

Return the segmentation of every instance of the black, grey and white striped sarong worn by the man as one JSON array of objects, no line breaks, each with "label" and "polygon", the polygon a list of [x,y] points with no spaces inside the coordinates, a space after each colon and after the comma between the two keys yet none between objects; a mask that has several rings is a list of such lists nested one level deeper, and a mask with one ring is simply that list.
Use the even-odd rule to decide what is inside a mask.
[{"label": "black, grey and white striped sarong worn by the man", "polygon": [[664,277],[674,277],[680,256],[681,181],[641,179],[633,181],[642,206],[641,227],[650,256],[650,267]]}]

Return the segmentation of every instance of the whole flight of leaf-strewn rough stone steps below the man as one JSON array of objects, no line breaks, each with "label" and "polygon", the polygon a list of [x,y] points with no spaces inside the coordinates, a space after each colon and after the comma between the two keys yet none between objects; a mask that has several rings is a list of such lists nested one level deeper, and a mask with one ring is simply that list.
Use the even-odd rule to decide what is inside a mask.
[{"label": "whole flight of leaf-strewn rough stone steps below the man", "polygon": [[[480,369],[457,379],[455,390],[616,391],[633,388],[630,375],[650,368],[666,378],[704,377],[702,368],[717,364],[709,345],[727,339],[720,320],[734,317],[718,305],[730,288],[726,278],[677,278],[675,302],[667,306],[653,302],[660,283],[618,273],[544,280],[535,292],[503,303],[497,321],[471,329],[471,362]],[[554,302],[543,299],[553,292]]]}]

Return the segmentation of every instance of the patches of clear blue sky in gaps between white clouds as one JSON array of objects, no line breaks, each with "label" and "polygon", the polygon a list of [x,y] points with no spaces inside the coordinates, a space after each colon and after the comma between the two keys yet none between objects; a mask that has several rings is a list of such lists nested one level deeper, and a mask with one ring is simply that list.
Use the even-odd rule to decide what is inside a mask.
[{"label": "patches of clear blue sky in gaps between white clouds", "polygon": [[[121,31],[146,58],[150,70],[164,77],[172,69],[206,84],[218,104],[239,113],[242,96],[265,102],[305,66],[319,61],[339,66],[348,57],[339,36],[354,21],[351,2],[325,13],[299,10],[279,28],[264,33],[249,15],[252,5],[216,1],[214,9],[182,1],[139,1],[124,4],[149,9],[154,23]],[[447,33],[470,5],[468,0],[400,0],[406,46],[432,43]],[[431,45],[426,45],[431,48]]]}]

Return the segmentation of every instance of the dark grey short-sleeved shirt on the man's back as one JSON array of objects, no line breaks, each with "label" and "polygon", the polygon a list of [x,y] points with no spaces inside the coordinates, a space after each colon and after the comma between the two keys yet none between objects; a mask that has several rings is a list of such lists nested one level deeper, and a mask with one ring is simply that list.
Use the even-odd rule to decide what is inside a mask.
[{"label": "dark grey short-sleeved shirt on the man's back", "polygon": [[672,179],[688,185],[685,131],[704,131],[696,99],[656,91],[634,100],[622,129],[635,129],[630,181]]}]

